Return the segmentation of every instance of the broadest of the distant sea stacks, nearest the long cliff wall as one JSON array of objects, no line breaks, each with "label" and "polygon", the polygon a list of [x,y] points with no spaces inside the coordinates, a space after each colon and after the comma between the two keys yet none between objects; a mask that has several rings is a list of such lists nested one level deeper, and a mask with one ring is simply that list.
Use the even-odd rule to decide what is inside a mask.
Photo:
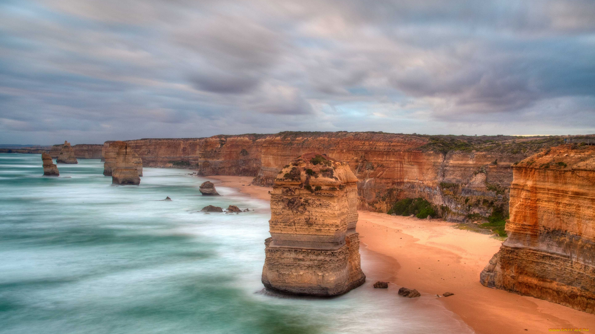
[{"label": "broadest of the distant sea stacks, nearest the long cliff wall", "polygon": [[[117,147],[111,169],[112,184],[140,184],[139,174],[142,175],[142,165],[140,166],[141,171],[139,172],[139,157],[134,152],[132,152],[130,147],[123,141],[116,141],[114,143],[118,144],[110,146],[112,148]],[[107,165],[107,163],[108,162],[106,161],[105,164]]]}]

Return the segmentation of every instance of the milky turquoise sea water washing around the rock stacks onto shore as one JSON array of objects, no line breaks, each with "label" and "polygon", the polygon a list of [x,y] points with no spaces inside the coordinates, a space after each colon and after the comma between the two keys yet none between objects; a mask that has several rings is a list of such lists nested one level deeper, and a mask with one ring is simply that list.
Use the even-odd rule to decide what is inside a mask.
[{"label": "milky turquoise sea water washing around the rock stacks onto shore", "polygon": [[[268,203],[202,197],[206,179],[187,170],[112,186],[99,160],[58,165],[59,178],[41,165],[0,154],[0,333],[472,333],[429,296],[372,289],[365,250],[368,282],[346,295],[260,293]],[[198,212],[208,204],[252,211]]]}]

